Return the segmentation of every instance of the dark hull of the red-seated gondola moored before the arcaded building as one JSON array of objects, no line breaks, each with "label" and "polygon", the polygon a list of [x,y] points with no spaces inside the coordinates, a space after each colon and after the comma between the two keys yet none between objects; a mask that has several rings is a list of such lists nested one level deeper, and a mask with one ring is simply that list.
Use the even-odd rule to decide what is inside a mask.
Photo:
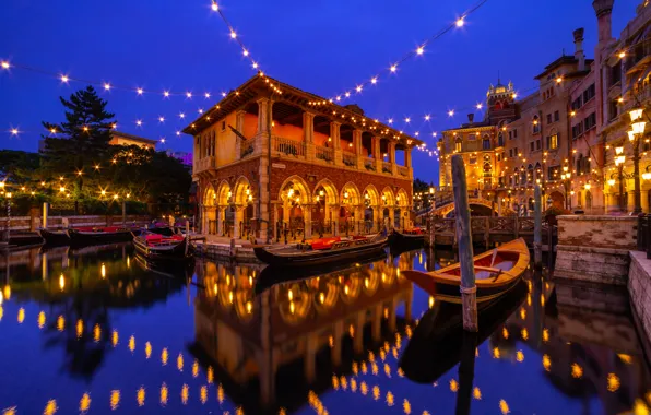
[{"label": "dark hull of the red-seated gondola moored before the arcaded building", "polygon": [[369,244],[352,246],[348,248],[307,252],[297,251],[295,254],[281,254],[280,252],[274,252],[274,249],[268,249],[267,247],[253,247],[253,252],[258,260],[269,265],[303,268],[323,265],[333,262],[353,262],[359,258],[383,253],[386,245],[387,238],[382,238]]}]

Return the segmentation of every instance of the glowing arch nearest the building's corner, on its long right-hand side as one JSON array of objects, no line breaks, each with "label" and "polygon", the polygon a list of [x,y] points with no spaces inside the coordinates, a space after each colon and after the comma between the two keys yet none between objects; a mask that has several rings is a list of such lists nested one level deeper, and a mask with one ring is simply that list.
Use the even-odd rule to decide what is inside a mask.
[{"label": "glowing arch nearest the building's corner, on its long right-hand side", "polygon": [[311,210],[305,208],[310,205],[312,198],[305,180],[298,176],[287,178],[281,186],[279,201],[276,217],[280,223],[276,226],[286,229],[294,240],[311,237]]}]

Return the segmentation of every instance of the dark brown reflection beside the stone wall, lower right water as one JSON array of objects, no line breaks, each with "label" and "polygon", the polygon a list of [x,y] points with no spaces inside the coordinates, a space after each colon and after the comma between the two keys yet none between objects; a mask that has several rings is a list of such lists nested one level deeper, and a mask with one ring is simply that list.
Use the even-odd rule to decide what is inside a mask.
[{"label": "dark brown reflection beside the stone wall, lower right water", "polygon": [[[529,294],[489,339],[493,358],[519,363],[526,344],[546,379],[584,413],[599,399],[603,413],[649,413],[651,377],[625,288],[549,280],[536,274]],[[520,343],[520,345],[518,345]]]}]

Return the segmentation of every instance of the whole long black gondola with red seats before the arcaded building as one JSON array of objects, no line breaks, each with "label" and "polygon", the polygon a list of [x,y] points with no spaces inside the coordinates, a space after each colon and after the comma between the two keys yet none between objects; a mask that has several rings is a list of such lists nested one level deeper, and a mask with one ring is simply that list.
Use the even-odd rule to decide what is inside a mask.
[{"label": "whole long black gondola with red seats before the arcaded building", "polygon": [[256,258],[274,266],[315,266],[334,262],[352,262],[358,258],[384,251],[387,237],[353,236],[322,238],[292,246],[253,247]]}]

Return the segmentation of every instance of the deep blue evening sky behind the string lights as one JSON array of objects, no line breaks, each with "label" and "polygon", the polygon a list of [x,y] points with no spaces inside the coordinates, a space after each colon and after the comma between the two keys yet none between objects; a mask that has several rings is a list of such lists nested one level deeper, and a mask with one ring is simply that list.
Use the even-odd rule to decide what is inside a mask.
[{"label": "deep blue evening sky behind the string lights", "polygon": [[[387,75],[386,69],[433,34],[454,22],[476,0],[454,1],[233,1],[220,7],[260,68],[303,90],[333,97],[380,74],[347,103],[405,132],[421,132],[433,146],[433,131],[464,122],[490,83],[513,81],[519,92],[558,58],[573,54],[571,32],[585,28],[584,49],[593,57],[596,19],[590,0],[538,2],[488,0],[462,28],[431,43],[425,54]],[[535,7],[532,7],[533,4]],[[638,0],[616,0],[613,33],[618,37],[634,17]],[[372,4],[372,5],[371,5]],[[241,49],[209,0],[199,1],[38,1],[0,5],[0,59],[73,78],[162,94],[102,91],[116,112],[118,130],[150,139],[158,149],[190,151],[188,135],[175,134],[216,104],[222,91],[255,74]],[[59,122],[58,96],[85,86],[13,68],[0,72],[0,147],[36,151],[42,120]],[[102,90],[100,87],[98,87]],[[212,97],[205,99],[203,93]],[[447,116],[457,110],[453,118]],[[185,112],[181,120],[179,114]],[[430,114],[433,119],[425,121]],[[165,123],[158,117],[165,117]],[[404,122],[411,117],[410,124]],[[477,116],[482,118],[483,115]],[[143,126],[138,127],[137,120]],[[19,128],[20,135],[9,133]],[[436,180],[436,158],[415,152],[415,176]]]}]

